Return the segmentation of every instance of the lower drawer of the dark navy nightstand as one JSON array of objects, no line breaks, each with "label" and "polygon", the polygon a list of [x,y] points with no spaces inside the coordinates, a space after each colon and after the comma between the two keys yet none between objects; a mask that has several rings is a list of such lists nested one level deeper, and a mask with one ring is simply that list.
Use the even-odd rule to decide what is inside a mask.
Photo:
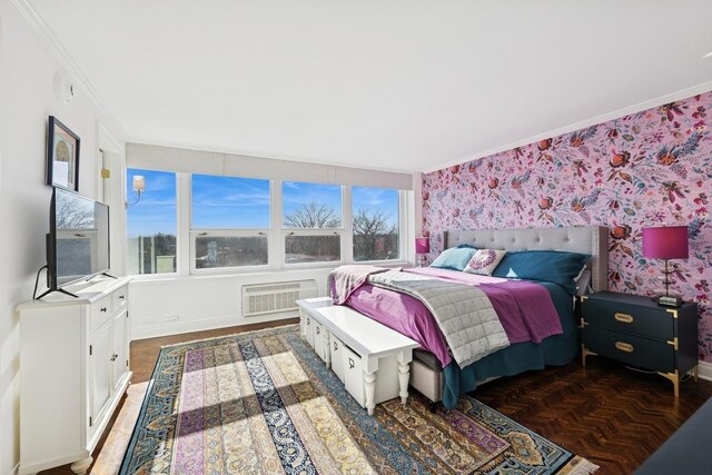
[{"label": "lower drawer of the dark navy nightstand", "polygon": [[665,373],[675,369],[674,347],[666,342],[585,326],[583,345],[599,355],[629,365]]}]

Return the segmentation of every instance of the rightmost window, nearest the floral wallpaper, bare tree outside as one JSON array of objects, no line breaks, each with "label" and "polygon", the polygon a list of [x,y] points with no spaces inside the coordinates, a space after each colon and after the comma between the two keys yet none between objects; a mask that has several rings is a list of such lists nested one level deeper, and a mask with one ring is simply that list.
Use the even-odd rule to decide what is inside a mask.
[{"label": "rightmost window, nearest the floral wallpaper, bare tree outside", "polygon": [[399,257],[399,192],[388,188],[354,187],[354,260]]}]

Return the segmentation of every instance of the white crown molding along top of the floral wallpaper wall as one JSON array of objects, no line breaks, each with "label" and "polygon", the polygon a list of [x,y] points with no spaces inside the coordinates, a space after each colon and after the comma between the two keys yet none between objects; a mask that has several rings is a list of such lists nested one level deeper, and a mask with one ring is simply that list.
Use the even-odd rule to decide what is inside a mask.
[{"label": "white crown molding along top of the floral wallpaper wall", "polygon": [[548,139],[552,137],[558,137],[564,133],[574,132],[576,130],[585,129],[587,127],[596,126],[599,123],[607,122],[613,119],[619,119],[623,116],[629,116],[631,113],[642,112],[643,110],[652,109],[654,107],[662,106],[664,103],[673,102],[675,100],[686,99],[692,96],[696,96],[699,93],[709,92],[712,90],[712,81],[702,82],[701,85],[693,86],[686,89],[682,89],[675,92],[671,92],[664,96],[659,96],[654,99],[644,100],[642,102],[634,103],[632,106],[624,107],[622,109],[616,109],[611,112],[603,113],[601,116],[592,117],[590,119],[582,120],[580,122],[574,122],[568,126],[560,127],[557,129],[553,129],[543,133],[537,133],[535,136],[531,136],[524,138],[522,140],[516,140],[514,142],[493,147],[487,150],[478,151],[476,154],[468,155],[463,158],[458,158],[456,160],[449,160],[436,167],[431,167],[423,170],[424,174],[431,174],[433,171],[442,170],[447,167],[452,167],[455,165],[465,164],[472,160],[476,160],[478,158],[488,157],[494,154],[500,154],[501,151],[512,150],[516,147],[522,147],[525,145],[534,144],[538,140]]}]

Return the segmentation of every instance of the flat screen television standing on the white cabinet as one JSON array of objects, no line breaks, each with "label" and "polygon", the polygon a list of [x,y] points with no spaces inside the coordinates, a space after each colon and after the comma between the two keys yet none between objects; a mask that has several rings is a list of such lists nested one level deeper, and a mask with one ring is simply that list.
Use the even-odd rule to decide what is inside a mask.
[{"label": "flat screen television standing on the white cabinet", "polygon": [[55,188],[47,235],[49,290],[43,295],[106,273],[109,265],[109,207]]}]

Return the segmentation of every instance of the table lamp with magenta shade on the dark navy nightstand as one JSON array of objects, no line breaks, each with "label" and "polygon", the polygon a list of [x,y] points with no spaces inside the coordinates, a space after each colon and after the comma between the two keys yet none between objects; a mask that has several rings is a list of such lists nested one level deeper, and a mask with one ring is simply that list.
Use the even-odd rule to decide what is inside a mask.
[{"label": "table lamp with magenta shade on the dark navy nightstand", "polygon": [[670,295],[670,259],[686,259],[688,250],[688,227],[669,226],[643,228],[643,256],[651,259],[664,259],[665,270],[663,270],[665,284],[665,295],[657,297],[657,305],[666,307],[680,307],[682,298]]}]

